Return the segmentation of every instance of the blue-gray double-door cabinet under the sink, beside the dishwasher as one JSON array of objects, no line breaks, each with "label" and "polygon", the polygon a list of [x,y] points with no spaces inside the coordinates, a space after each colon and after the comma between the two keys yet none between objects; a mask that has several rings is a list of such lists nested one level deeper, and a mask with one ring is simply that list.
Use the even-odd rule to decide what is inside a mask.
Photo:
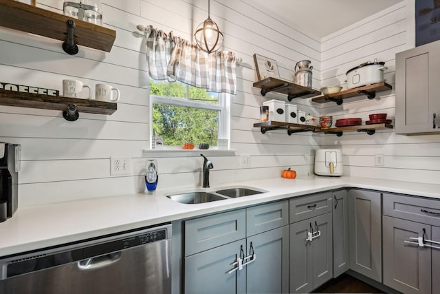
[{"label": "blue-gray double-door cabinet under the sink, beside the dishwasher", "polygon": [[184,293],[288,293],[288,203],[186,220]]}]

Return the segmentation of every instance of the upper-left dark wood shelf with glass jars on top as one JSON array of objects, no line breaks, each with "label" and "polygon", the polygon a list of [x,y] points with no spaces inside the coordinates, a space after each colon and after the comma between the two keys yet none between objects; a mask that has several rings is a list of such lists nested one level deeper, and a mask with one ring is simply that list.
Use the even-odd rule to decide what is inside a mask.
[{"label": "upper-left dark wood shelf with glass jars on top", "polygon": [[67,21],[75,22],[74,43],[110,52],[116,32],[101,25],[80,21],[63,14],[14,0],[0,0],[0,26],[66,41]]}]

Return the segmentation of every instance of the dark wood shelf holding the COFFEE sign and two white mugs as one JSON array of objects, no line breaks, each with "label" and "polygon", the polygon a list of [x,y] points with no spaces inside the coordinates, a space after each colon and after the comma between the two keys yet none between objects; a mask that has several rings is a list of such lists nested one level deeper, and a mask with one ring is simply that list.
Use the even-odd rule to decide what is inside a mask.
[{"label": "dark wood shelf holding the COFFEE sign and two white mugs", "polygon": [[94,99],[89,100],[0,90],[0,105],[65,111],[67,107],[72,104],[76,105],[78,112],[89,114],[113,114],[113,112],[118,109],[116,103],[96,101]]}]

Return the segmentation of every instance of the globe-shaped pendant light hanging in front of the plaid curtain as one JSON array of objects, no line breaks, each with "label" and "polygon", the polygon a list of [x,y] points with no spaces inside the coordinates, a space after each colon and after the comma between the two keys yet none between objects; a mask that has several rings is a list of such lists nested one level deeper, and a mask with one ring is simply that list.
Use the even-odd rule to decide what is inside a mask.
[{"label": "globe-shaped pendant light hanging in front of the plaid curtain", "polygon": [[210,18],[210,0],[208,0],[208,19],[199,24],[194,36],[199,48],[208,53],[216,52],[223,43],[223,34],[219,26]]}]

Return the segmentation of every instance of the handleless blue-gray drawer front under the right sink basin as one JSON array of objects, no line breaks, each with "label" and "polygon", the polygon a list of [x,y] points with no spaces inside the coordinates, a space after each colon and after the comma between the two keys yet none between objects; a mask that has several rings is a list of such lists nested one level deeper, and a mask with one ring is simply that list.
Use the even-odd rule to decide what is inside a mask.
[{"label": "handleless blue-gray drawer front under the right sink basin", "polygon": [[246,209],[246,233],[256,235],[289,224],[288,200]]}]

